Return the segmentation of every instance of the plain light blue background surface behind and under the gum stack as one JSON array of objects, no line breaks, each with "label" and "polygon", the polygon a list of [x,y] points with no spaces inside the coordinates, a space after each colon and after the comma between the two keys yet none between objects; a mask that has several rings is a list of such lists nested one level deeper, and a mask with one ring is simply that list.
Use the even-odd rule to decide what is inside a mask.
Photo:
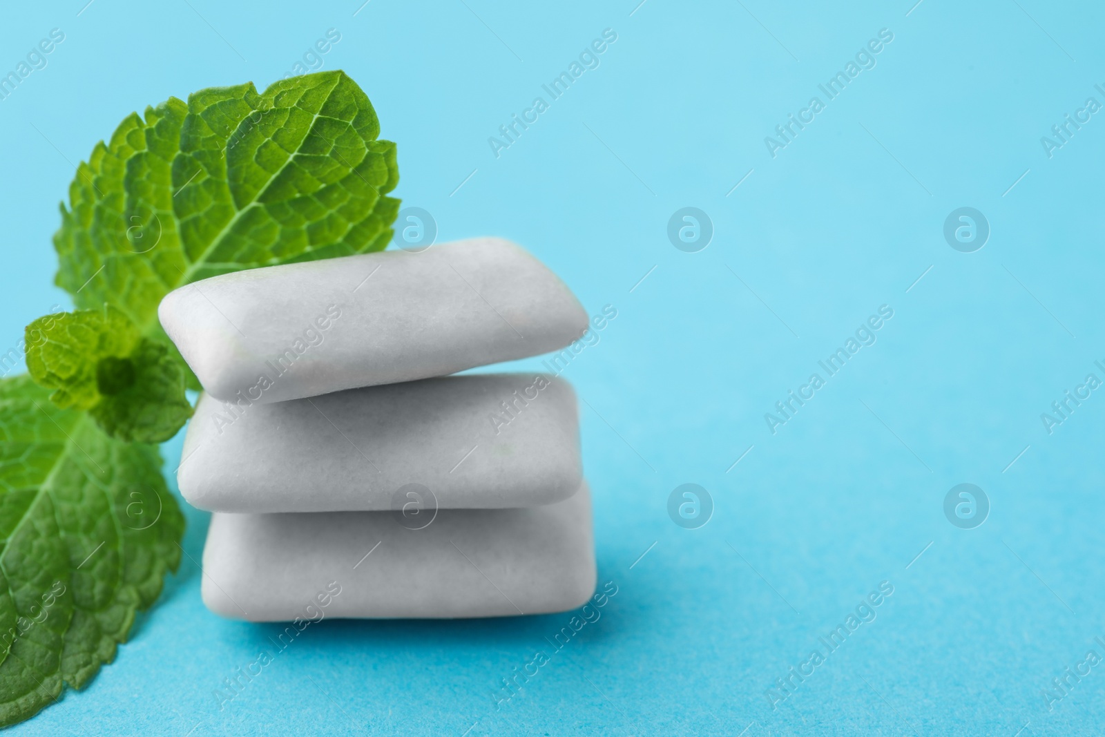
[{"label": "plain light blue background surface behind and under the gum stack", "polygon": [[[397,194],[440,241],[514,239],[589,312],[618,309],[565,371],[618,594],[506,706],[502,680],[568,614],[325,621],[220,709],[277,628],[203,608],[190,510],[189,557],[116,662],[13,734],[1099,734],[1105,666],[1044,689],[1105,657],[1105,391],[1050,434],[1040,415],[1105,380],[1105,113],[1041,144],[1105,104],[1102,11],[913,1],[7,8],[3,70],[52,28],[65,41],[0,101],[6,346],[69,304],[50,236],[96,140],[169,95],[263,87],[329,28],[324,67],[371,97]],[[599,66],[496,158],[488,137],[607,28]],[[875,66],[829,101],[818,85],[880,29]],[[765,137],[811,96],[824,108],[772,158]],[[714,227],[697,253],[666,234],[684,207]],[[961,207],[990,227],[972,253],[944,236]],[[765,413],[881,305],[874,345],[772,434]],[[667,515],[684,483],[714,502],[698,529]],[[945,516],[960,483],[989,498],[974,529]],[[882,581],[874,621],[772,698]]]}]

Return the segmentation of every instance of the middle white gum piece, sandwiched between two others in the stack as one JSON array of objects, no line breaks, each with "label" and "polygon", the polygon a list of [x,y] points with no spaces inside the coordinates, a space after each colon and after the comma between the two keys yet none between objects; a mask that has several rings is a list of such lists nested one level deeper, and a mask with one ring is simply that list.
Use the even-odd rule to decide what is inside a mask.
[{"label": "middle white gum piece, sandwiched between two others in the stack", "polygon": [[443,509],[532,507],[568,498],[582,480],[576,394],[539,373],[244,407],[203,394],[181,457],[181,495],[210,512],[394,509],[408,484]]}]

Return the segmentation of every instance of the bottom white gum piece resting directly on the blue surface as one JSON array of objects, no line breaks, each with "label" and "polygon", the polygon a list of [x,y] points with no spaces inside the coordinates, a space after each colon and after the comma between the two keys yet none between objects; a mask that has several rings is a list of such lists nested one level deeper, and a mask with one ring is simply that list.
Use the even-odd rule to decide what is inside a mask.
[{"label": "bottom white gum piece resting directly on the blue surface", "polygon": [[203,549],[203,603],[254,622],[541,614],[594,583],[586,482],[525,509],[215,513]]}]

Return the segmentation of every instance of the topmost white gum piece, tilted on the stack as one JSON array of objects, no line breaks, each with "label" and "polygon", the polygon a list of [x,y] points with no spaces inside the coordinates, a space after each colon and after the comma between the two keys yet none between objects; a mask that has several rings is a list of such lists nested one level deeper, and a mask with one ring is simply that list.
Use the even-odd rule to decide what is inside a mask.
[{"label": "topmost white gum piece, tilted on the stack", "polygon": [[261,403],[527,358],[588,325],[564,282],[498,238],[213,276],[158,317],[208,393]]}]

